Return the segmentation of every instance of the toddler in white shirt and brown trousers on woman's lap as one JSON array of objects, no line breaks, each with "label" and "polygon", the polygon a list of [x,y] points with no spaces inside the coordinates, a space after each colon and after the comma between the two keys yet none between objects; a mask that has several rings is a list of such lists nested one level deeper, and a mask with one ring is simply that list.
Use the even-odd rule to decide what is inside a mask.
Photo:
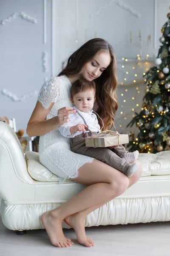
[{"label": "toddler in white shirt and brown trousers on woman's lap", "polygon": [[96,88],[93,81],[78,79],[71,87],[71,102],[77,113],[69,115],[69,121],[60,125],[59,131],[65,137],[71,138],[71,150],[77,154],[94,157],[109,166],[131,177],[138,165],[131,164],[138,158],[139,152],[127,152],[125,147],[93,148],[85,146],[85,137],[100,133],[97,116],[93,113]]}]

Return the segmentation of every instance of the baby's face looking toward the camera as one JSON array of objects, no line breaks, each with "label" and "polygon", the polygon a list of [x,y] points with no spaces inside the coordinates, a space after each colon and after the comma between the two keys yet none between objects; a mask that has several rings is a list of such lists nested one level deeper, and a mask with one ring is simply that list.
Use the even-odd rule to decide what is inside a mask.
[{"label": "baby's face looking toward the camera", "polygon": [[73,102],[76,108],[85,113],[91,111],[95,101],[94,90],[80,92],[74,95]]}]

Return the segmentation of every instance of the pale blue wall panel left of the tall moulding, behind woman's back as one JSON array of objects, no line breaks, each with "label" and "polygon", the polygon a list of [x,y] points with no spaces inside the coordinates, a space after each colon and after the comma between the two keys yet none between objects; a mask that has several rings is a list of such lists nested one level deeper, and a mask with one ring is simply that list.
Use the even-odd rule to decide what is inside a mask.
[{"label": "pale blue wall panel left of the tall moulding, behind woman's back", "polygon": [[[2,23],[20,12],[37,23],[20,15]],[[48,54],[45,72],[44,51]],[[0,0],[0,116],[14,117],[17,129],[23,128],[26,132],[37,93],[48,76],[51,76],[51,0]],[[3,90],[10,96],[4,95]],[[16,100],[26,95],[27,98]]]}]

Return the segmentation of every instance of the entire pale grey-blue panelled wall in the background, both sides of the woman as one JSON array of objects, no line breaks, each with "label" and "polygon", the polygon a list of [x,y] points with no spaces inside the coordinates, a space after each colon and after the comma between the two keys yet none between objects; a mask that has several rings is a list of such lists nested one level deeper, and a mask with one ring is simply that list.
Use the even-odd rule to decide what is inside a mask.
[{"label": "entire pale grey-blue panelled wall in the background, both sides of the woman", "polygon": [[[51,15],[51,1],[53,15]],[[76,16],[77,1],[78,15]],[[28,119],[37,101],[37,95],[16,102],[3,95],[2,90],[6,89],[19,98],[35,90],[38,92],[45,78],[51,75],[51,65],[52,73],[58,74],[62,69],[62,61],[65,61],[71,52],[74,52],[85,41],[93,38],[95,31],[97,37],[105,38],[112,44],[117,58],[135,58],[136,54],[139,53],[139,47],[130,44],[130,30],[132,30],[134,43],[138,40],[139,29],[141,29],[145,43],[149,34],[153,38],[149,46],[144,45],[143,55],[149,54],[151,58],[153,55],[157,55],[159,37],[161,36],[160,30],[167,21],[166,15],[170,11],[170,1],[122,0],[122,3],[139,12],[140,18],[115,3],[107,8],[106,4],[109,2],[111,0],[0,0],[0,116],[15,117],[17,129],[26,130]],[[45,8],[44,3],[46,3]],[[156,4],[156,9],[154,4]],[[102,6],[106,9],[101,10],[99,15],[90,18],[89,15],[100,10]],[[37,23],[34,24],[22,19],[22,17],[17,17],[12,22],[3,25],[2,20],[14,12],[25,12],[34,17]],[[44,19],[45,13],[46,18]],[[156,23],[154,21],[155,13]],[[51,27],[52,16],[53,26]],[[45,23],[46,26],[44,26]],[[156,41],[154,41],[154,25],[156,25]],[[78,29],[78,43],[75,41],[76,28]],[[85,29],[87,30],[87,38],[85,38]],[[44,31],[46,31],[46,43],[43,40]],[[53,41],[52,48],[51,39]],[[154,42],[156,42],[156,49],[154,49]],[[48,71],[45,73],[42,67],[42,51],[48,52]],[[53,57],[52,64],[51,54]],[[126,69],[132,70],[133,65],[137,65],[134,60],[128,67],[126,65]],[[122,70],[120,61],[118,67],[120,82],[124,78],[125,70]],[[142,76],[142,68],[138,67],[137,74],[139,74],[138,77]],[[133,78],[132,70],[127,82],[133,81]],[[135,108],[137,103],[141,104],[144,87],[142,84],[138,87],[140,93],[137,93],[135,84],[134,87],[127,88],[127,92],[125,91],[126,86],[119,87],[119,110],[116,113],[117,127],[122,125],[122,128],[125,128],[132,119],[133,113],[130,110]],[[121,96],[121,93],[124,96]],[[135,99],[132,100],[132,97]],[[126,99],[125,103],[123,103],[124,99]],[[126,114],[126,120],[120,114],[122,103],[124,105],[123,115],[130,112]],[[138,112],[139,110],[140,108],[137,109]],[[129,128],[125,128],[123,131],[119,128],[119,131],[129,131]]]}]

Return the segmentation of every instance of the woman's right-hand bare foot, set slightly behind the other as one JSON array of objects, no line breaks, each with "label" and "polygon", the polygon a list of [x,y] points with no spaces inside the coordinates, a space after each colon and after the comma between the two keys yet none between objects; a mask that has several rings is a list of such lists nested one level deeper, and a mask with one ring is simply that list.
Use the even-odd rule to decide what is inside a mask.
[{"label": "woman's right-hand bare foot, set slightly behind the other", "polygon": [[83,244],[87,247],[94,246],[94,241],[92,241],[91,238],[87,237],[85,234],[84,218],[81,218],[79,213],[75,213],[73,215],[66,217],[64,221],[70,227],[74,228],[77,240],[80,244]]}]

